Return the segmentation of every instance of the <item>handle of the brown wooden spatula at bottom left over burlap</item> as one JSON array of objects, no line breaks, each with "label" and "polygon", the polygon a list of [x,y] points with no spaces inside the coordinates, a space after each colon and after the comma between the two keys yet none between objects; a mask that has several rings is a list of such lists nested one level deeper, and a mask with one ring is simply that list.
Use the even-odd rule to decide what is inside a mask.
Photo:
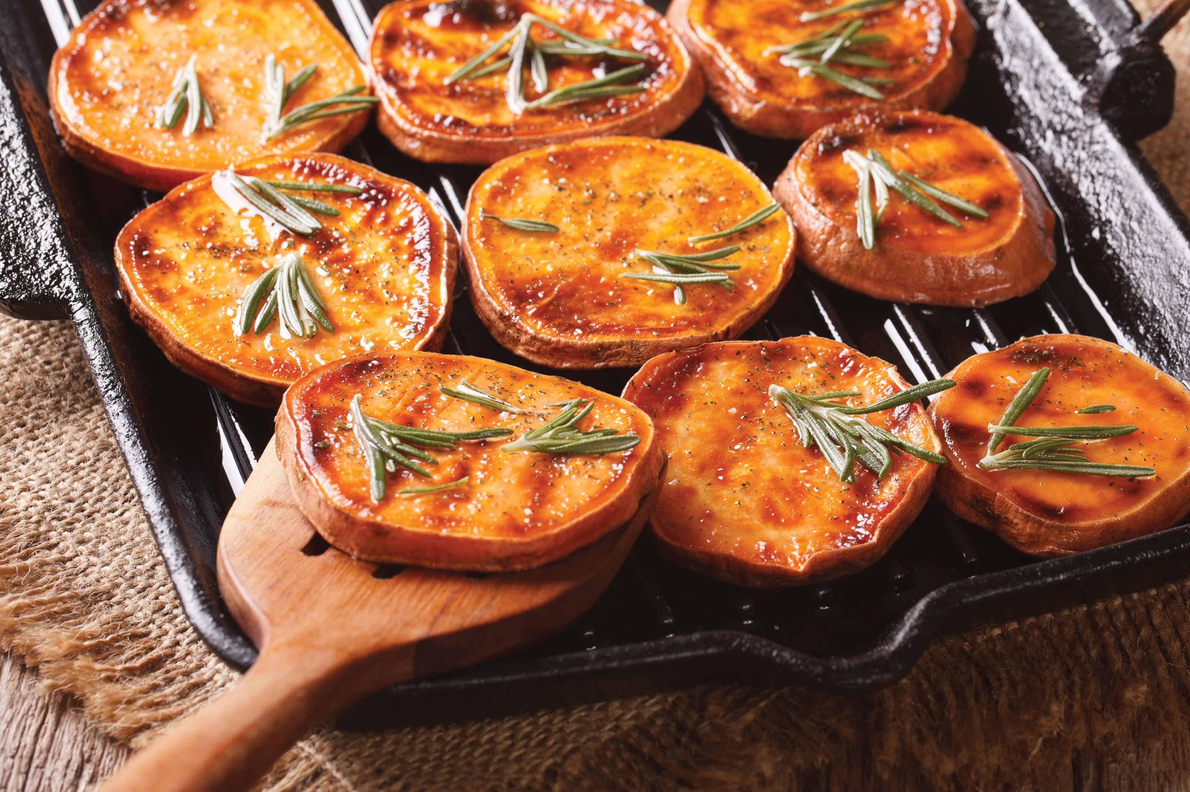
[{"label": "handle of the brown wooden spatula at bottom left over burlap", "polygon": [[308,648],[265,650],[230,692],[133,755],[100,792],[250,788],[315,724],[371,692],[369,674],[352,665]]}]

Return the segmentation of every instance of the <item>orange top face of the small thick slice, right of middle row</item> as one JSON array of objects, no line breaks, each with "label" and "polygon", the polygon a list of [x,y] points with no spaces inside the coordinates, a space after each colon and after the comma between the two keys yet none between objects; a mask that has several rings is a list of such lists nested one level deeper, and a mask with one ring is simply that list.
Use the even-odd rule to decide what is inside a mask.
[{"label": "orange top face of the small thick slice, right of middle row", "polygon": [[[908,170],[989,214],[982,220],[942,204],[963,224],[958,229],[889,191],[888,208],[876,226],[877,247],[889,244],[922,254],[973,254],[1009,237],[1023,222],[1020,179],[995,139],[953,116],[903,113],[857,117],[832,127],[818,145],[798,149],[791,176],[802,195],[838,225],[856,227],[858,176],[843,154],[851,150],[866,156],[869,149],[884,155],[894,172]],[[875,197],[872,201],[875,211]]]}]

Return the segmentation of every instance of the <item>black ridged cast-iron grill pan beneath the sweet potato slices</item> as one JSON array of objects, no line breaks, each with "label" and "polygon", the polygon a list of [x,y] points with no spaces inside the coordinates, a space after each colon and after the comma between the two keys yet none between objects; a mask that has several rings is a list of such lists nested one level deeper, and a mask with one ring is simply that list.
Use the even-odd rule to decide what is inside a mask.
[{"label": "black ridged cast-iron grill pan beneath the sweet potato slices", "polygon": [[[327,2],[357,49],[378,10],[364,5]],[[45,102],[56,40],[90,7],[10,0],[0,10],[0,308],[74,320],[183,607],[220,656],[244,667],[256,650],[223,609],[214,550],[271,416],[178,373],[119,301],[112,242],[156,197],[70,161]],[[1150,39],[1177,12],[1138,27],[1123,0],[973,0],[971,11],[979,44],[951,112],[1035,168],[1064,220],[1054,274],[1028,297],[958,310],[882,303],[798,270],[746,337],[831,336],[920,381],[1020,336],[1072,331],[1122,343],[1190,380],[1190,224],[1127,142],[1169,120],[1173,69]],[[770,183],[795,149],[732,129],[709,102],[675,137],[740,156]],[[416,182],[455,219],[480,173],[409,160],[375,126],[346,154]],[[461,280],[444,351],[524,363],[483,329]],[[578,379],[619,393],[628,374]],[[688,573],[644,540],[591,612],[547,644],[389,688],[347,722],[487,717],[712,679],[872,690],[903,675],[942,631],[1134,591],[1185,574],[1188,562],[1186,526],[1038,562],[933,501],[872,568],[794,591]]]}]

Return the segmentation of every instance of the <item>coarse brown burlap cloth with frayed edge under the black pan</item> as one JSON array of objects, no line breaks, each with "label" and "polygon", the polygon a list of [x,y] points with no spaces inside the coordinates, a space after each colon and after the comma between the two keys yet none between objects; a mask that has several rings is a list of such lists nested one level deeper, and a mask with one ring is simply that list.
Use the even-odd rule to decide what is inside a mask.
[{"label": "coarse brown burlap cloth with frayed edge under the black pan", "polygon": [[[1179,117],[1144,149],[1188,207],[1185,21],[1166,45]],[[237,674],[182,615],[70,325],[0,320],[0,648],[140,744]],[[1182,581],[951,637],[858,698],[708,686],[324,729],[264,788],[1190,788],[1188,601]]]}]

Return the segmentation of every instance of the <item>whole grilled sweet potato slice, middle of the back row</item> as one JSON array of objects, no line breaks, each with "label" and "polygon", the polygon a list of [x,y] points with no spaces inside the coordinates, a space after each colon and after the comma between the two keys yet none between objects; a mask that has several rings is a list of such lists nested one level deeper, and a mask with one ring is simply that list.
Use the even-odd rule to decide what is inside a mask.
[{"label": "whole grilled sweet potato slice, middle of the back row", "polygon": [[[614,39],[618,48],[646,54],[644,74],[631,81],[646,91],[515,113],[506,99],[507,67],[447,82],[527,13],[585,38]],[[546,44],[564,40],[539,25],[531,35]],[[507,54],[508,48],[502,49],[484,66]],[[634,64],[602,55],[549,55],[547,87],[574,86]],[[369,66],[376,95],[383,100],[381,130],[396,148],[426,162],[490,164],[547,143],[599,135],[662,137],[690,117],[704,91],[702,71],[665,20],[632,0],[402,0],[376,17]],[[524,96],[532,101],[544,92],[527,67],[528,60]]]}]

